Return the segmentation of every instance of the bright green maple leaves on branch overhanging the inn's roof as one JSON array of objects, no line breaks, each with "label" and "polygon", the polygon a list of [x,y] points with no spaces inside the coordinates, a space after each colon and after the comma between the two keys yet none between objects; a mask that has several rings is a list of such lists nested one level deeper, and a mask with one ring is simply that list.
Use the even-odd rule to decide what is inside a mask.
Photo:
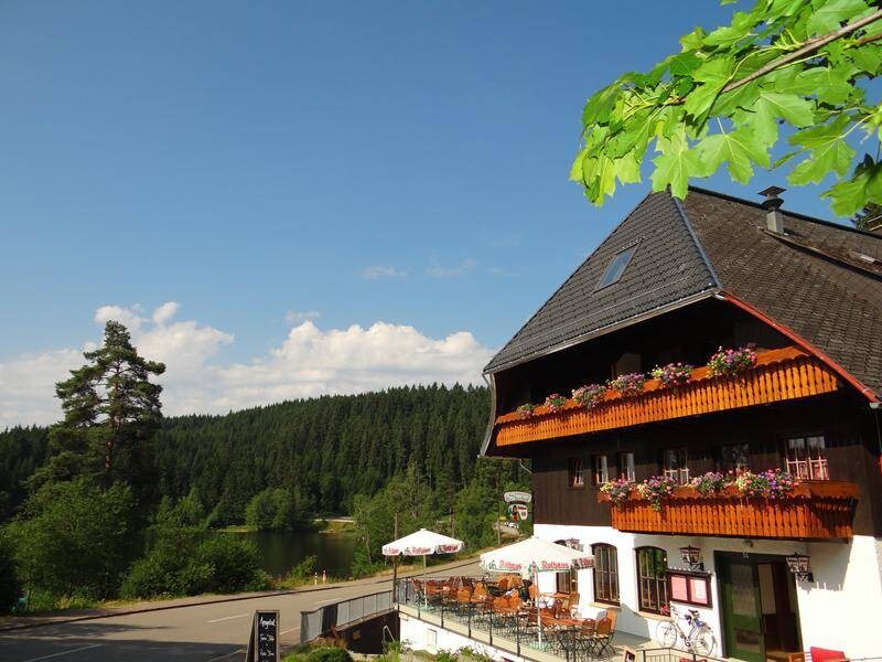
[{"label": "bright green maple leaves on branch overhanging the inn's roof", "polygon": [[[616,182],[641,181],[654,152],[653,190],[680,199],[723,164],[742,183],[786,164],[795,185],[838,180],[824,193],[837,214],[882,202],[882,108],[868,99],[882,70],[880,19],[871,0],[757,0],[728,25],[692,30],[679,53],[588,99],[570,178],[600,205]],[[858,157],[859,137],[873,153]]]}]

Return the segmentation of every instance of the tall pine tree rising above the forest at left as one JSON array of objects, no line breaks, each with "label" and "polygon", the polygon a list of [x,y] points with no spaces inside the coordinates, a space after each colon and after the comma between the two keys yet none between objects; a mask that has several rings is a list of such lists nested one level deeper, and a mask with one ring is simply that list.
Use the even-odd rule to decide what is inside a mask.
[{"label": "tall pine tree rising above the forest at left", "polygon": [[94,476],[105,487],[121,480],[142,493],[153,479],[150,442],[162,419],[162,387],[150,376],[165,366],[139,356],[115,321],[105,325],[101,346],[83,356],[86,365],[55,386],[64,419],[50,430],[52,457],[34,482]]}]

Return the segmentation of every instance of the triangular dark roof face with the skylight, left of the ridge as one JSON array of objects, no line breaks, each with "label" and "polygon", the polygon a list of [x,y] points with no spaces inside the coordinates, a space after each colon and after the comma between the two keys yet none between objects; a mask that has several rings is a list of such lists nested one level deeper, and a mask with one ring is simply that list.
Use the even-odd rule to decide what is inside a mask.
[{"label": "triangular dark roof face with the skylight, left of the ridge", "polygon": [[[679,203],[648,195],[491,360],[496,372],[700,292],[717,289]],[[637,244],[622,278],[595,289],[610,260]]]}]

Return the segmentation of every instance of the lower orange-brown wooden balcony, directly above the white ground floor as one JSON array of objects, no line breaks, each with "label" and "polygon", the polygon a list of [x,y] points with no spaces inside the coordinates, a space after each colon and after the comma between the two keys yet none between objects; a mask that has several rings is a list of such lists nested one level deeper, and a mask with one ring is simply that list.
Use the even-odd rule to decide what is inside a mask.
[{"label": "lower orange-brown wooden balcony, directly above the white ground floor", "polygon": [[[599,493],[598,500],[609,498]],[[778,500],[745,498],[734,488],[716,496],[678,488],[660,511],[633,491],[627,502],[611,510],[613,528],[631,533],[847,541],[857,500],[854,483],[825,480],[798,483]]]}]

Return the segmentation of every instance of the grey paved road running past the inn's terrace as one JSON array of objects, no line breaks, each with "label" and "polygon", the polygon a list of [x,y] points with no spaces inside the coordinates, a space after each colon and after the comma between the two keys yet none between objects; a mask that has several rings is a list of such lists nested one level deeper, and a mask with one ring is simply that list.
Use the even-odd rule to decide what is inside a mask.
[{"label": "grey paved road running past the inn's terrace", "polygon": [[[456,574],[475,574],[471,564]],[[2,662],[85,662],[108,660],[155,662],[159,660],[240,660],[248,641],[255,609],[280,611],[281,641],[300,639],[300,612],[351,598],[385,590],[389,579],[372,584],[180,607],[163,611],[110,616],[107,618],[53,623],[0,632]]]}]

